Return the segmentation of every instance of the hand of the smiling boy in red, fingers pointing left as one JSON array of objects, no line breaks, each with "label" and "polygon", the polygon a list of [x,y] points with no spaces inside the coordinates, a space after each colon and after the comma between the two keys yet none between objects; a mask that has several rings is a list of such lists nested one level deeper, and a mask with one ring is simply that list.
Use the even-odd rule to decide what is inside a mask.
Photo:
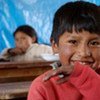
[{"label": "hand of the smiling boy in red, fingers pointing left", "polygon": [[73,71],[73,66],[67,65],[66,67],[59,67],[55,70],[50,70],[44,77],[43,81],[47,81],[51,77],[59,75],[60,79],[57,80],[58,84],[64,83],[68,80],[69,75]]}]

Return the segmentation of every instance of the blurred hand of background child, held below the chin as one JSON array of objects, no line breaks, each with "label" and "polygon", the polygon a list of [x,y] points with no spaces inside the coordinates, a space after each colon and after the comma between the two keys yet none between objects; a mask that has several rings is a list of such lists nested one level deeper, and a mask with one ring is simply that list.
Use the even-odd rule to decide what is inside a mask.
[{"label": "blurred hand of background child, held below the chin", "polygon": [[12,56],[21,55],[25,52],[21,48],[12,48],[8,50],[8,53]]}]

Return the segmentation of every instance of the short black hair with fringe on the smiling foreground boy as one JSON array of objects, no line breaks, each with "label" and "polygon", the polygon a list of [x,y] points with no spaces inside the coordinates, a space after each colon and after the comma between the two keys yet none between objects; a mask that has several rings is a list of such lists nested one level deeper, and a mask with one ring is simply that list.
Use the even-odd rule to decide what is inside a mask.
[{"label": "short black hair with fringe on the smiling foreground boy", "polygon": [[54,15],[51,41],[58,43],[59,36],[64,32],[72,33],[73,30],[100,34],[99,6],[85,1],[76,1],[60,7]]}]

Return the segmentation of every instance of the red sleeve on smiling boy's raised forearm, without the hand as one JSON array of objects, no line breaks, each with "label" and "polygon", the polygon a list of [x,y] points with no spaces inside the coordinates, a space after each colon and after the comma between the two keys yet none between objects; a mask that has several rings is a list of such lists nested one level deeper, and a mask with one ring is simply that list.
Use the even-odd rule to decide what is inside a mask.
[{"label": "red sleeve on smiling boy's raised forearm, without the hand", "polygon": [[69,81],[82,94],[82,100],[100,100],[100,76],[89,66],[77,64]]}]

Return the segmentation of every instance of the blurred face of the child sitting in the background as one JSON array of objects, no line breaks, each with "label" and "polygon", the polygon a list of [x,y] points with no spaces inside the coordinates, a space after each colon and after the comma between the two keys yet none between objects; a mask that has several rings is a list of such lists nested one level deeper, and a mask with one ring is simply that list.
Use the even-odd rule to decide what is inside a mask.
[{"label": "blurred face of the child sitting in the background", "polygon": [[33,38],[23,32],[17,32],[15,35],[16,47],[22,49],[24,52],[26,52],[32,42]]}]

